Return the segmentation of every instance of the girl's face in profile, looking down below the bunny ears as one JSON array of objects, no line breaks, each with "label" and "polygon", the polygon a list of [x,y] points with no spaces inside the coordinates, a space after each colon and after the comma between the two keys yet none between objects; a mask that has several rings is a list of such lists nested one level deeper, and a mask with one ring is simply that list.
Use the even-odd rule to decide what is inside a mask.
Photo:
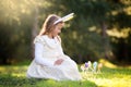
[{"label": "girl's face in profile, looking down below the bunny ears", "polygon": [[63,27],[64,23],[58,23],[51,32],[52,37],[56,37],[61,33],[61,28]]}]

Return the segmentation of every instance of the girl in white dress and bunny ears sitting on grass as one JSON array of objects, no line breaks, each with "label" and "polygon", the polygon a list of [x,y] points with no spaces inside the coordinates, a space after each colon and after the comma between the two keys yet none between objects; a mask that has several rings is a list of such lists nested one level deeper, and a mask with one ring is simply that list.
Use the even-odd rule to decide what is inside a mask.
[{"label": "girl in white dress and bunny ears sitting on grass", "polygon": [[56,80],[80,80],[81,75],[76,63],[63,53],[59,34],[67,18],[55,14],[49,15],[35,44],[35,59],[27,70],[27,77],[51,78]]}]

